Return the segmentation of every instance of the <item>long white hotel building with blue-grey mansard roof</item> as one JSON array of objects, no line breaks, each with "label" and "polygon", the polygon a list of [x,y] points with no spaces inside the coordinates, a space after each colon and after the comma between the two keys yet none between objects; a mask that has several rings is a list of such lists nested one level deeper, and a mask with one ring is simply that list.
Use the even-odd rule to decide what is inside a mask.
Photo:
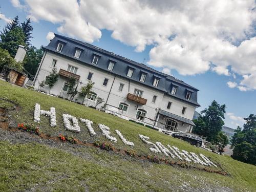
[{"label": "long white hotel building with blue-grey mansard roof", "polygon": [[[51,94],[67,98],[70,78],[77,79],[77,90],[89,80],[93,93],[83,104],[95,106],[96,97],[104,99],[106,112],[127,120],[166,130],[191,132],[198,89],[173,76],[121,57],[101,48],[55,34],[37,70],[34,87],[46,81],[53,68],[59,74]],[[46,85],[43,88],[49,91]],[[75,99],[83,97],[77,94]],[[101,104],[101,106],[104,103]]]}]

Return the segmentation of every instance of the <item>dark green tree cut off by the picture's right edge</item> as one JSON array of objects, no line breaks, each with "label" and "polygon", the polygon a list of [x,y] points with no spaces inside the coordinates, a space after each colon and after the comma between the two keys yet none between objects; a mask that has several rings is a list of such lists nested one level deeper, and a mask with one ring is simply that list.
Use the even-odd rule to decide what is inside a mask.
[{"label": "dark green tree cut off by the picture's right edge", "polygon": [[256,165],[256,116],[250,114],[248,118],[244,118],[246,123],[244,129],[240,126],[234,131],[231,139],[231,147],[233,148],[232,158]]}]

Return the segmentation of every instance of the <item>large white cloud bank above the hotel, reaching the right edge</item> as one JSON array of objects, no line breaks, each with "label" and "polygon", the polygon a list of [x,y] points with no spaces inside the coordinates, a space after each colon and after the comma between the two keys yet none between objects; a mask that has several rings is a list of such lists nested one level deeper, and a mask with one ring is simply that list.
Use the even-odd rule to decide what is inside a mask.
[{"label": "large white cloud bank above the hotel, reaching the right edge", "polygon": [[182,75],[208,70],[230,77],[240,75],[243,88],[238,89],[256,90],[254,0],[24,2],[20,5],[12,0],[33,20],[59,25],[60,33],[93,42],[107,29],[114,39],[137,52],[153,45],[148,61],[152,66]]}]

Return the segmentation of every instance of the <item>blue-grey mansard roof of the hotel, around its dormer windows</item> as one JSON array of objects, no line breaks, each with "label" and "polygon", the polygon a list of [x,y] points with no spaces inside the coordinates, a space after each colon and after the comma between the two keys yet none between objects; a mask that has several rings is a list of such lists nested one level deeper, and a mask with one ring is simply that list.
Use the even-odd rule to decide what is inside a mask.
[{"label": "blue-grey mansard roof of the hotel, around its dormer windows", "polygon": [[[65,44],[61,52],[56,50],[59,41],[62,41]],[[173,76],[154,70],[146,65],[143,65],[142,63],[138,63],[120,55],[116,55],[112,52],[103,50],[99,47],[88,44],[87,42],[82,42],[70,37],[55,34],[55,37],[51,40],[50,44],[44,48],[46,50],[75,59],[76,61],[82,62],[83,64],[93,66],[123,78],[131,79],[133,81],[144,84],[145,86],[162,91],[172,97],[184,100],[196,106],[200,106],[197,102],[197,91],[199,91],[198,89],[189,86],[187,83],[178,80]],[[76,49],[80,49],[82,51],[79,58],[74,57]],[[94,55],[98,55],[100,57],[97,65],[92,64]],[[108,70],[110,60],[116,62],[113,71]],[[126,76],[128,68],[134,69],[132,77]],[[140,75],[142,72],[147,73],[145,82],[140,81]],[[158,87],[153,86],[155,77],[160,78]],[[179,86],[176,95],[170,94],[172,86]],[[187,89],[193,91],[190,100],[185,99]]]}]

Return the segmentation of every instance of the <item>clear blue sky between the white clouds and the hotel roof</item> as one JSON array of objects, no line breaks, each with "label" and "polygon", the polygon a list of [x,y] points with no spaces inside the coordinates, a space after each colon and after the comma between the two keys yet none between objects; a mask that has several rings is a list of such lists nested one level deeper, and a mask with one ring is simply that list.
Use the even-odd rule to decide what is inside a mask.
[{"label": "clear blue sky between the white clouds and the hotel roof", "polygon": [[[26,1],[22,1],[20,2],[20,4],[22,5],[29,5],[27,8],[23,8],[20,5],[15,6],[15,3],[17,3],[18,1],[4,1],[0,4],[1,9],[0,12],[5,15],[6,18],[13,18],[14,16],[18,15],[20,18],[20,21],[23,22],[23,20],[25,20],[27,18],[27,16],[33,15],[34,17],[37,17],[37,22],[32,22],[32,26],[34,28],[33,30],[33,39],[32,39],[32,45],[34,45],[35,47],[39,48],[41,45],[46,46],[49,41],[46,39],[46,36],[48,34],[48,32],[54,32],[54,33],[58,33],[58,34],[62,34],[62,35],[67,35],[67,36],[74,36],[74,38],[80,39],[80,40],[84,40],[83,38],[81,38],[81,36],[79,36],[80,34],[76,34],[74,33],[70,33],[67,32],[67,30],[65,31],[65,29],[57,29],[58,27],[63,25],[63,22],[58,22],[58,21],[54,21],[52,19],[49,18],[44,18],[42,16],[38,16],[35,13],[33,13],[33,11],[31,11],[31,9],[33,8],[33,5],[29,5],[29,3],[26,3]],[[28,1],[29,2],[29,1]],[[36,1],[34,1],[36,2]],[[15,6],[15,7],[14,7]],[[39,5],[38,5],[39,7]],[[66,14],[66,13],[65,13]],[[93,13],[91,13],[91,15],[87,15],[87,18],[92,16]],[[35,20],[35,19],[34,19]],[[254,20],[255,22],[255,20]],[[4,21],[4,19],[0,20],[0,28],[2,29],[4,26],[6,25],[6,22]],[[98,26],[97,26],[98,25]],[[200,72],[194,71],[192,74],[189,74],[189,70],[188,72],[186,71],[186,68],[188,68],[189,66],[186,66],[187,63],[182,63],[180,61],[177,61],[177,59],[175,61],[177,61],[177,65],[168,65],[168,63],[165,66],[159,66],[157,63],[158,62],[166,62],[165,60],[163,60],[163,58],[158,58],[154,55],[154,53],[151,53],[152,50],[154,48],[159,48],[159,51],[161,51],[160,46],[157,47],[157,45],[162,45],[162,40],[160,41],[156,41],[154,43],[149,43],[147,42],[144,49],[142,48],[138,48],[140,45],[137,45],[136,43],[133,42],[133,40],[126,40],[129,39],[129,35],[125,36],[125,39],[122,37],[122,33],[124,34],[125,31],[119,31],[118,35],[113,35],[113,31],[117,30],[114,29],[113,26],[106,26],[106,27],[99,27],[102,24],[95,24],[95,26],[100,29],[98,31],[101,32],[100,37],[93,37],[93,42],[91,42],[93,45],[98,46],[100,48],[106,49],[108,51],[112,51],[115,54],[119,54],[121,56],[127,57],[129,59],[135,60],[137,62],[143,62],[143,59],[146,58],[148,60],[146,60],[145,62],[150,62],[152,64],[151,67],[162,71],[163,68],[169,68],[171,69],[171,74],[181,80],[184,80],[186,83],[190,84],[193,87],[196,87],[197,89],[199,89],[200,91],[198,92],[198,102],[201,104],[201,107],[197,109],[198,112],[202,111],[204,108],[207,108],[207,106],[210,104],[210,102],[212,100],[217,100],[220,104],[226,104],[227,108],[226,108],[226,113],[228,113],[228,115],[226,115],[225,118],[225,125],[232,127],[232,128],[236,128],[237,124],[242,125],[243,122],[241,120],[241,118],[247,117],[250,113],[256,114],[256,92],[255,89],[253,87],[253,82],[255,81],[250,81],[250,84],[245,84],[245,82],[247,81],[243,81],[243,79],[247,79],[245,76],[243,75],[247,75],[247,72],[239,72],[239,63],[238,65],[234,66],[233,62],[236,61],[232,61],[231,59],[228,60],[229,66],[226,67],[226,70],[228,70],[228,74],[224,74],[225,72],[216,72],[215,70],[204,70],[202,72],[202,66],[198,67],[198,70],[201,70]],[[110,28],[110,29],[108,29]],[[111,29],[113,28],[113,29]],[[124,27],[125,28],[125,27]],[[127,28],[125,28],[127,31]],[[239,30],[239,29],[237,29]],[[254,32],[255,35],[255,28],[254,31],[252,29],[252,32]],[[98,33],[97,30],[94,33]],[[120,35],[121,34],[121,35]],[[144,34],[144,32],[143,32]],[[87,34],[85,34],[87,35]],[[251,36],[247,36],[247,37],[243,37],[242,40],[240,39],[240,41],[243,41],[245,39],[249,39],[254,37],[253,33],[251,33]],[[121,36],[121,37],[120,37]],[[236,37],[238,39],[238,37]],[[239,37],[240,38],[240,37]],[[90,39],[87,40],[90,42]],[[173,41],[174,42],[174,41]],[[168,42],[167,45],[171,45],[173,42]],[[232,42],[232,44],[236,44],[238,42],[238,40],[235,40]],[[255,41],[256,42],[256,41]],[[135,49],[140,49],[139,52],[138,50],[135,51]],[[170,48],[170,50],[172,50],[172,48]],[[194,50],[193,50],[194,51]],[[193,52],[190,51],[190,52]],[[242,52],[242,51],[241,51]],[[243,52],[242,52],[243,53]],[[256,52],[254,52],[256,55]],[[167,55],[168,56],[168,55]],[[162,57],[167,57],[166,55],[162,55]],[[174,55],[175,57],[175,55]],[[186,55],[184,55],[184,59],[188,58],[188,64],[189,64],[189,57],[187,57]],[[196,56],[195,56],[196,57]],[[249,57],[249,56],[247,56]],[[193,56],[194,58],[194,56]],[[221,56],[220,58],[224,58],[223,56]],[[252,59],[255,57],[252,57]],[[151,60],[150,60],[151,59]],[[226,59],[226,58],[225,58]],[[182,60],[182,57],[181,57]],[[216,59],[216,62],[218,60],[218,62],[220,62],[219,58]],[[168,60],[167,62],[175,62],[174,60],[172,60],[172,58],[170,60]],[[246,61],[246,60],[245,60]],[[254,65],[256,66],[256,60],[253,61]],[[197,65],[197,62],[195,62],[195,68]],[[204,64],[204,62],[202,62],[202,65]],[[213,63],[215,66],[215,63]],[[191,60],[191,65],[194,65],[192,60]],[[244,65],[244,63],[240,63],[240,65]],[[210,66],[212,67],[212,66]],[[253,66],[252,66],[253,68]],[[193,68],[191,68],[192,71],[194,70]],[[214,69],[214,68],[213,68]],[[222,69],[222,68],[221,68]],[[237,69],[237,70],[233,70],[232,69]],[[240,70],[240,71],[245,71],[245,70]],[[186,74],[184,74],[186,73]],[[183,75],[181,75],[183,74]],[[234,75],[236,75],[236,77],[234,78]],[[250,74],[248,74],[248,76],[250,77]],[[234,86],[234,88],[229,88],[229,86],[227,85],[227,82],[237,82],[237,86]],[[239,87],[239,81],[242,82],[242,86],[247,86],[246,89],[248,89],[247,91],[240,91],[240,89],[238,89]],[[244,82],[244,84],[243,84]],[[251,83],[252,82],[252,83]],[[251,86],[252,84],[252,86]],[[255,85],[256,87],[256,85]]]}]

